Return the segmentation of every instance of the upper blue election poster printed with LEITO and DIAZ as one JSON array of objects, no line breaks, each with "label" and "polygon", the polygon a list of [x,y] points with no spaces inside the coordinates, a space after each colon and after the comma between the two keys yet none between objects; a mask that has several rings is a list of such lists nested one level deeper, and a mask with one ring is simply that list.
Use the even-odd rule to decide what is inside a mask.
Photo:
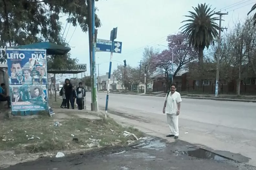
[{"label": "upper blue election poster printed with LEITO and DIAZ", "polygon": [[46,50],[6,49],[10,85],[46,85]]}]

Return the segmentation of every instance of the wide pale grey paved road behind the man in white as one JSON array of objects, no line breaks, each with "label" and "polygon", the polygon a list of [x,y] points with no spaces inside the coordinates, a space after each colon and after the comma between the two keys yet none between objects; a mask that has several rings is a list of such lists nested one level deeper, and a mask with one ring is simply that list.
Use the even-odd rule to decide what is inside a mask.
[{"label": "wide pale grey paved road behind the man in white", "polygon": [[[98,93],[100,108],[105,107],[105,96]],[[90,105],[90,93],[87,101]],[[116,112],[112,118],[159,137],[169,133],[166,116],[162,114],[163,104],[164,97],[123,94],[109,97],[109,109],[122,113]],[[255,121],[256,103],[183,99],[179,138],[242,162],[247,161],[243,156],[249,157],[249,164],[256,166]]]}]

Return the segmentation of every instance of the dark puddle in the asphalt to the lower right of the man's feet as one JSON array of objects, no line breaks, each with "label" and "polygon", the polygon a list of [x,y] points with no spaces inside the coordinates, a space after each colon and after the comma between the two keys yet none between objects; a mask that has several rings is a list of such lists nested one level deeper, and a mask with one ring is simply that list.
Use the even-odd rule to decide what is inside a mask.
[{"label": "dark puddle in the asphalt to the lower right of the man's feet", "polygon": [[185,148],[176,151],[176,155],[188,155],[192,157],[197,157],[201,159],[211,159],[211,160],[216,160],[216,161],[227,161],[229,160],[228,158],[225,158],[223,156],[219,156],[213,152],[207,151],[202,148]]}]

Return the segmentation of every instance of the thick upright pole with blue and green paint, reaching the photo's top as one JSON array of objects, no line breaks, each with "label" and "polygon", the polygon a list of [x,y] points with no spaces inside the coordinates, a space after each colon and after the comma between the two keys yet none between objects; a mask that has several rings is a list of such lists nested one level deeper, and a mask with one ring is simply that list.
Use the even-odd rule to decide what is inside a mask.
[{"label": "thick upright pole with blue and green paint, reaching the photo's top", "polygon": [[95,0],[92,0],[92,103],[91,103],[91,111],[98,111],[98,102],[97,102],[97,80],[96,80],[96,62],[95,62]]}]

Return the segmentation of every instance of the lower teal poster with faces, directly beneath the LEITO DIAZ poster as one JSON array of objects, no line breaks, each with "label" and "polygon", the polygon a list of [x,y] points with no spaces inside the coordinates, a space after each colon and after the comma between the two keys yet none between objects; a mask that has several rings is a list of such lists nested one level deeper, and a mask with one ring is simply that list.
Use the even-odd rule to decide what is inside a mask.
[{"label": "lower teal poster with faces, directly beneath the LEITO DIAZ poster", "polygon": [[10,86],[12,111],[47,110],[46,85]]}]

